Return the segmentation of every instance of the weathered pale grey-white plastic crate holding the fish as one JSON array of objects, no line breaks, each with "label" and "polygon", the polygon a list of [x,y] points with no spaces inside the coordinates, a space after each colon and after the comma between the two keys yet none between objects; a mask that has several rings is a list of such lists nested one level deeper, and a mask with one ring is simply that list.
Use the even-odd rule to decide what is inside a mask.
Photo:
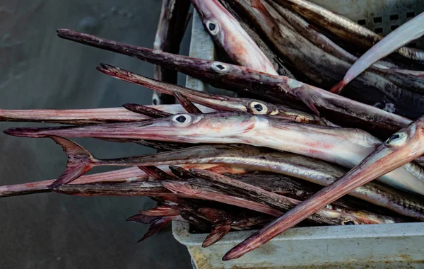
[{"label": "weathered pale grey-white plastic crate holding the fish", "polygon": [[[415,0],[310,0],[387,35],[398,25],[424,11]],[[423,48],[423,40],[416,42]],[[214,46],[194,12],[190,56],[215,57]],[[208,91],[203,82],[187,77],[186,86]],[[189,224],[172,222],[172,234],[192,256],[194,268],[424,268],[424,223],[289,229],[242,258],[222,261],[233,246],[254,231],[231,231],[208,248],[207,234],[191,234]]]}]

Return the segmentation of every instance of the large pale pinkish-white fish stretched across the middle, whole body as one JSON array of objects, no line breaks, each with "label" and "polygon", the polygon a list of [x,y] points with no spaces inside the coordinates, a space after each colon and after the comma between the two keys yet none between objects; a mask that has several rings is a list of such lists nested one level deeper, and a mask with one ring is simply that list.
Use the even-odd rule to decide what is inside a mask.
[{"label": "large pale pinkish-white fish stretched across the middle, whole body", "polygon": [[[310,125],[249,113],[176,114],[145,122],[110,123],[82,127],[11,128],[18,137],[96,137],[148,139],[165,142],[250,144],[322,159],[353,168],[381,143],[360,129]],[[75,169],[73,169],[75,168]],[[87,166],[69,167],[73,174]],[[379,178],[380,181],[424,194],[424,173],[413,162]],[[60,180],[54,185],[59,185]]]}]

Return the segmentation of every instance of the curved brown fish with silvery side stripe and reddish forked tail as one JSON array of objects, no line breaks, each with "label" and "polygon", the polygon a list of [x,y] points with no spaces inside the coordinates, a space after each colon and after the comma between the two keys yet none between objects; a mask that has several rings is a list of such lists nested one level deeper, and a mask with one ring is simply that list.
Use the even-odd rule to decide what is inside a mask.
[{"label": "curved brown fish with silvery side stripe and reddish forked tail", "polygon": [[[59,177],[62,182],[71,182],[72,178],[80,178],[83,173],[95,166],[160,166],[162,168],[165,165],[210,164],[231,167],[231,173],[266,171],[301,178],[323,186],[329,185],[346,173],[343,168],[318,159],[289,152],[270,151],[269,149],[245,144],[204,145],[128,158],[96,159],[87,149],[75,142],[61,137],[53,138],[64,148],[69,157],[66,171]],[[71,173],[69,169],[72,170]],[[225,169],[219,170],[216,167],[213,170],[220,173],[225,172]],[[73,171],[81,172],[75,173]],[[261,176],[261,178],[264,178],[264,176]],[[290,179],[285,181],[290,181]],[[257,182],[256,185],[261,186],[261,181]],[[293,188],[285,186],[285,189],[287,191]],[[296,193],[299,193],[298,189]],[[413,198],[408,193],[389,188],[386,185],[367,183],[349,194],[372,204],[386,207],[399,214],[424,220],[424,200]]]}]

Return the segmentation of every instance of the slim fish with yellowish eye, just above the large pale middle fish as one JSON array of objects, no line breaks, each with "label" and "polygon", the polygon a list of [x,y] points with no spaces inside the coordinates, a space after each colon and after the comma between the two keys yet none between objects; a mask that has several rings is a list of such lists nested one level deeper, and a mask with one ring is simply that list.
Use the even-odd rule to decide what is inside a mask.
[{"label": "slim fish with yellowish eye, just above the large pale middle fish", "polygon": [[292,119],[297,122],[311,122],[319,125],[334,125],[324,118],[319,118],[316,115],[310,115],[309,113],[302,112],[300,110],[294,110],[288,108],[285,105],[274,105],[264,101],[259,101],[251,98],[233,98],[230,96],[222,96],[213,93],[204,93],[200,91],[194,91],[190,88],[184,88],[177,85],[167,84],[162,81],[156,81],[149,79],[146,76],[135,74],[125,69],[113,67],[108,64],[101,64],[98,70],[102,73],[113,76],[117,79],[129,81],[134,84],[151,88],[161,93],[169,95],[175,95],[179,93],[185,96],[190,101],[204,105],[211,110],[216,111],[242,111],[249,112],[255,115],[276,115],[279,117]]}]

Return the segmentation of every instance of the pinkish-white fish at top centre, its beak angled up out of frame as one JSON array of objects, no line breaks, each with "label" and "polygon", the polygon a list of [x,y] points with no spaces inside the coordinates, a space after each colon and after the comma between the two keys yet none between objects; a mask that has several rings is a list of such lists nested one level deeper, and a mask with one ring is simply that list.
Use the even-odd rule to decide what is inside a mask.
[{"label": "pinkish-white fish at top centre, its beak angled up out of frame", "polygon": [[233,61],[243,67],[278,75],[264,52],[218,0],[191,1],[204,23],[206,32]]}]

